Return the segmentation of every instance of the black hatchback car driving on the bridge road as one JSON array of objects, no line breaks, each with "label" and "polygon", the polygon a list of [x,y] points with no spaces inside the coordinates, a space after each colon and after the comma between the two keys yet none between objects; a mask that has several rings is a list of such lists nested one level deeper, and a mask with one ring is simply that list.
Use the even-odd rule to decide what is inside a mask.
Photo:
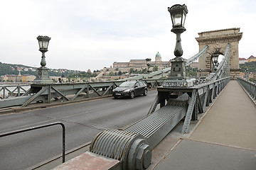
[{"label": "black hatchback car driving on the bridge road", "polygon": [[112,95],[114,98],[120,98],[120,97],[129,97],[134,98],[135,96],[139,95],[147,95],[147,88],[146,84],[143,81],[136,81],[136,80],[130,80],[130,81],[124,81],[122,84],[120,84],[117,88],[115,88],[112,91]]}]

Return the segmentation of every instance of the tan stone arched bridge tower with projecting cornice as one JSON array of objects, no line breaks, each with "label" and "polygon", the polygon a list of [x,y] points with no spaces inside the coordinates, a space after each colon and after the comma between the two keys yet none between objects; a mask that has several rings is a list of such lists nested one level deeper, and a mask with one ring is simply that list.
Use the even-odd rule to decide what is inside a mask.
[{"label": "tan stone arched bridge tower with projecting cornice", "polygon": [[201,77],[208,76],[212,70],[212,55],[218,53],[224,55],[225,49],[230,43],[230,77],[239,77],[239,57],[238,57],[238,43],[242,38],[240,28],[228,28],[224,30],[211,30],[198,33],[196,38],[199,45],[199,51],[208,45],[208,50],[201,57],[199,57],[198,75]]}]

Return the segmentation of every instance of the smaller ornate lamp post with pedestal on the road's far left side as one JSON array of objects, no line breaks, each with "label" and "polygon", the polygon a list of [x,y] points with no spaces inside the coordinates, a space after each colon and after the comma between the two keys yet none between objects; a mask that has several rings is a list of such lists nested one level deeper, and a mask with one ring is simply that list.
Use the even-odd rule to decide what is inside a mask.
[{"label": "smaller ornate lamp post with pedestal on the road's far left side", "polygon": [[38,36],[39,51],[42,52],[41,67],[38,68],[38,77],[34,79],[34,84],[52,84],[53,80],[50,79],[48,68],[46,67],[46,56],[45,53],[48,51],[48,44],[50,38],[48,36]]}]

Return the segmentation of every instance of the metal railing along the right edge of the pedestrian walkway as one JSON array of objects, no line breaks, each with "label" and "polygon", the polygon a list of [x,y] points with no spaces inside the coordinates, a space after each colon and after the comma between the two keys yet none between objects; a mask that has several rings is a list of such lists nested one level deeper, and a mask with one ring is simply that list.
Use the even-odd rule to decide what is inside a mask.
[{"label": "metal railing along the right edge of the pedestrian walkway", "polygon": [[252,101],[256,104],[256,84],[246,79],[238,78],[239,84],[247,91],[247,94],[252,98]]}]

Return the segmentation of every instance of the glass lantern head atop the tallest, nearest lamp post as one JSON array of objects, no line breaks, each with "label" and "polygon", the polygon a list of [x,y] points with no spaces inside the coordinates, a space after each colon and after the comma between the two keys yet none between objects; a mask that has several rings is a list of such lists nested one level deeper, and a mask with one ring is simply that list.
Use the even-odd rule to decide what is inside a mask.
[{"label": "glass lantern head atop the tallest, nearest lamp post", "polygon": [[181,6],[176,4],[174,6],[168,7],[168,11],[171,15],[173,28],[184,27],[186,14],[188,13],[186,5],[183,4]]}]

